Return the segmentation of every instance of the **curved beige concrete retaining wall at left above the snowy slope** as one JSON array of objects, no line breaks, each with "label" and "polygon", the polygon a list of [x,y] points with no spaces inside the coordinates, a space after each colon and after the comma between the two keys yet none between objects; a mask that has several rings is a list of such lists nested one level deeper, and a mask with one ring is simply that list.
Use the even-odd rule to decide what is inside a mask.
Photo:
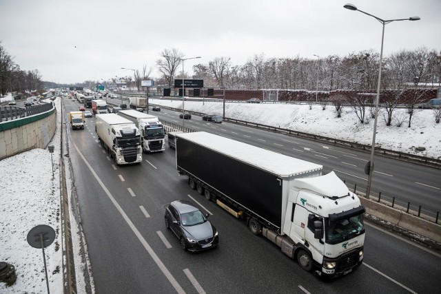
[{"label": "curved beige concrete retaining wall at left above the snowy slope", "polygon": [[57,130],[55,107],[48,112],[0,123],[0,160],[34,148],[45,148]]}]

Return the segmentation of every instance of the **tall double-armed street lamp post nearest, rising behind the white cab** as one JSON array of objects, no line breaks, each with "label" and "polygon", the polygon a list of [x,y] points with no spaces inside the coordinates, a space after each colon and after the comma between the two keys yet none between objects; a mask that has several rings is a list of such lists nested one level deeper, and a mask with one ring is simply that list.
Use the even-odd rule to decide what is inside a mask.
[{"label": "tall double-armed street lamp post nearest, rising behind the white cab", "polygon": [[368,173],[366,197],[367,197],[367,199],[369,199],[369,195],[371,193],[371,182],[372,182],[372,173],[373,173],[373,154],[375,153],[375,137],[376,137],[376,132],[377,132],[378,101],[380,100],[380,83],[381,83],[381,66],[382,66],[382,58],[383,58],[384,26],[387,25],[388,23],[391,23],[392,21],[419,21],[420,17],[409,17],[408,19],[383,20],[383,19],[380,19],[379,17],[376,17],[372,14],[369,14],[367,12],[359,10],[356,6],[354,6],[351,3],[347,3],[343,7],[346,9],[349,9],[349,10],[358,10],[364,14],[367,14],[367,15],[369,15],[369,17],[373,17],[377,21],[380,21],[380,23],[382,23],[382,25],[383,25],[382,35],[381,35],[380,65],[378,66],[378,85],[377,85],[377,97],[376,97],[376,101],[375,101],[375,118],[373,120],[371,160],[369,162],[367,162],[367,168],[365,169],[365,171]]}]

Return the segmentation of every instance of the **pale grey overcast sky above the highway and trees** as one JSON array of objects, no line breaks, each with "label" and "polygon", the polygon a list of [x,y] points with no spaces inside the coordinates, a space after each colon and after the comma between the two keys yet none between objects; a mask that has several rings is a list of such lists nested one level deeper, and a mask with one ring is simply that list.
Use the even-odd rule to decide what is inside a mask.
[{"label": "pale grey overcast sky above the highway and trees", "polygon": [[[441,50],[441,0],[347,0],[386,25],[384,55]],[[192,65],[265,58],[380,52],[382,25],[340,0],[0,0],[0,41],[21,70],[43,81],[80,83],[130,76],[176,48]]]}]

